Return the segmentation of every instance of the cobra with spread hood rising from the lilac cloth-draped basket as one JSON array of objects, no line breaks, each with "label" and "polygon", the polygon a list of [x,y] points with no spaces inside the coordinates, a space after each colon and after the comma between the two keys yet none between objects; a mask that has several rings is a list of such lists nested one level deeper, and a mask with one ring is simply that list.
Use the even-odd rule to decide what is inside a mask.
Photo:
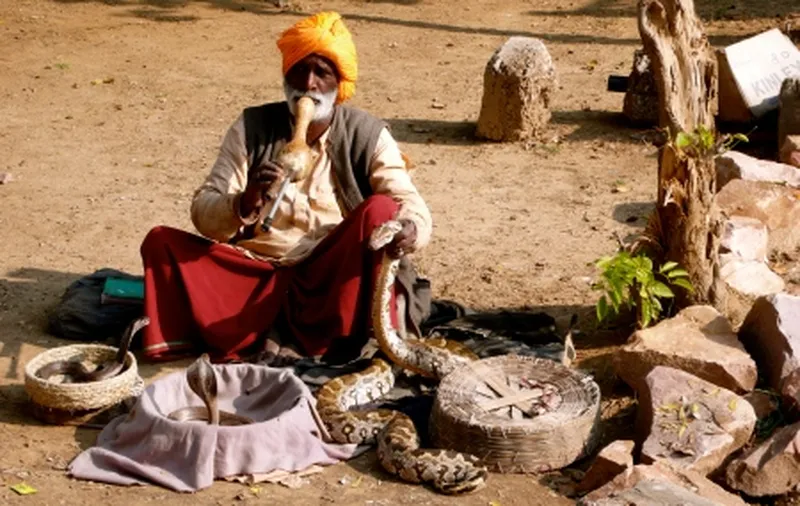
[{"label": "cobra with spread hood rising from the lilac cloth-draped basket", "polygon": [[247,425],[254,420],[246,416],[221,411],[217,405],[217,375],[207,353],[200,355],[186,368],[189,388],[203,401],[205,407],[176,409],[167,417],[176,422],[208,422],[209,425]]}]

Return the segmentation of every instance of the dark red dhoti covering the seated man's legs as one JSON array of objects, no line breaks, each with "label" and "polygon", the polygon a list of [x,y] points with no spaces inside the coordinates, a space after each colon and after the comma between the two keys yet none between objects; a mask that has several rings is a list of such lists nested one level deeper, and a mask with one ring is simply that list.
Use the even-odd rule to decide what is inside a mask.
[{"label": "dark red dhoti covering the seated man's legs", "polygon": [[240,359],[279,316],[307,355],[325,353],[339,338],[353,339],[360,349],[371,328],[382,255],[367,243],[372,230],[396,212],[390,197],[368,198],[308,258],[290,267],[248,258],[188,232],[154,228],[141,247],[150,317],[143,331],[145,357],[169,360],[202,349],[214,360]]}]

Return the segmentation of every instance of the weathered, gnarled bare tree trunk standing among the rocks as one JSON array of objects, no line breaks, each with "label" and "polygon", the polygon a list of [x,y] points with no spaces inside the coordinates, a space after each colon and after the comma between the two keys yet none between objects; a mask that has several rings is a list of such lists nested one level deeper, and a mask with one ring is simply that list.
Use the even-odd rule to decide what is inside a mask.
[{"label": "weathered, gnarled bare tree trunk standing among the rocks", "polygon": [[[717,64],[693,0],[639,0],[638,20],[658,87],[659,123],[669,140],[699,126],[714,132]],[[711,304],[723,311],[714,160],[678,157],[671,144],[658,162],[658,242],[664,259],[680,263],[695,287],[679,305]]]}]

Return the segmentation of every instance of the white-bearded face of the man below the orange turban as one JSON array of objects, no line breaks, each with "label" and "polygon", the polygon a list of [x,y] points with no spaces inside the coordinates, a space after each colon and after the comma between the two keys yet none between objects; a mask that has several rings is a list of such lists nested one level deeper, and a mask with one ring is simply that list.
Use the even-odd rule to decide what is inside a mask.
[{"label": "white-bearded face of the man below the orange turban", "polygon": [[330,60],[311,54],[289,69],[284,77],[283,88],[292,114],[295,114],[297,100],[308,96],[316,105],[313,120],[322,121],[333,114],[339,91],[339,74]]}]

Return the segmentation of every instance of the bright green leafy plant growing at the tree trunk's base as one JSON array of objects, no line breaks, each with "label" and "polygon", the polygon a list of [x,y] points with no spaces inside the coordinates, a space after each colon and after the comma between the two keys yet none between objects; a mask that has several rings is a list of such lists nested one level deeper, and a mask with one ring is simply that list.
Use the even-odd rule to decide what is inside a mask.
[{"label": "bright green leafy plant growing at the tree trunk's base", "polygon": [[637,326],[646,328],[661,317],[662,301],[675,297],[671,287],[693,290],[689,274],[676,262],[665,262],[656,269],[644,254],[623,250],[599,259],[595,266],[600,269],[600,279],[592,288],[605,292],[595,306],[598,322],[627,309],[635,310]]}]

